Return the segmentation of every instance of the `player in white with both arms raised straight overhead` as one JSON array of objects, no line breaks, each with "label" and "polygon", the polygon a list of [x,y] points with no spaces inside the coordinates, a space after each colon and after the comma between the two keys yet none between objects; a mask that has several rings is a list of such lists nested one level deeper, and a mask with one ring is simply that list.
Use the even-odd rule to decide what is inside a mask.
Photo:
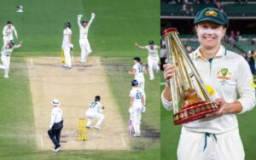
[{"label": "player in white with both arms raised straight overhead", "polygon": [[82,14],[78,15],[78,24],[79,24],[79,32],[80,32],[79,44],[81,48],[81,63],[85,63],[87,56],[91,53],[90,43],[88,41],[88,31],[92,23],[92,20],[95,19],[95,14],[94,13],[91,14],[90,21],[88,24],[87,24],[87,21],[83,20],[82,21],[83,26],[80,23],[80,20],[82,17],[83,17]]}]

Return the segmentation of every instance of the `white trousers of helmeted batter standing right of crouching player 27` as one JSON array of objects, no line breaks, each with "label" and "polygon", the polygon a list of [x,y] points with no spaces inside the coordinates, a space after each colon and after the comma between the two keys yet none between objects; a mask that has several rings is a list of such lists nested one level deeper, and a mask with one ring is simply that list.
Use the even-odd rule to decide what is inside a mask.
[{"label": "white trousers of helmeted batter standing right of crouching player 27", "polygon": [[139,106],[139,107],[132,106],[131,117],[132,117],[132,126],[135,134],[141,134],[142,110],[143,110],[142,106]]}]

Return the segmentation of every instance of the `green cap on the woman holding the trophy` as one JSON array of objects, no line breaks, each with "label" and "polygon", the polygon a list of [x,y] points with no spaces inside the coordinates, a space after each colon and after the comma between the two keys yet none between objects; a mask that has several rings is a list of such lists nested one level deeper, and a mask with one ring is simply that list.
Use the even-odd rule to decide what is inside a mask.
[{"label": "green cap on the woman holding the trophy", "polygon": [[202,9],[195,15],[194,25],[201,21],[211,21],[218,25],[224,25],[228,28],[229,19],[226,14],[215,8]]}]

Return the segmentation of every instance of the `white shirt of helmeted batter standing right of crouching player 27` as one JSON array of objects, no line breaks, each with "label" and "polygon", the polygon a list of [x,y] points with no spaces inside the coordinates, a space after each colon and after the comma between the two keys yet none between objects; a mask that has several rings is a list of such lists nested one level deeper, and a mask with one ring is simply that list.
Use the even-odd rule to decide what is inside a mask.
[{"label": "white shirt of helmeted batter standing right of crouching player 27", "polygon": [[143,96],[143,89],[139,87],[132,87],[130,92],[130,97],[133,97],[133,104],[132,107],[142,107],[142,96]]}]

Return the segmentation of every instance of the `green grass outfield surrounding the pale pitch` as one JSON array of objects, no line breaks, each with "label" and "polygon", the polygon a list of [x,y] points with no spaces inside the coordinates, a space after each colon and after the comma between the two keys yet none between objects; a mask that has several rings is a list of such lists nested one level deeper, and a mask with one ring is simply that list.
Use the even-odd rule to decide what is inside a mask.
[{"label": "green grass outfield surrounding the pale pitch", "polygon": [[[20,4],[25,11],[23,14],[15,13],[15,7]],[[160,136],[160,78],[149,82],[146,77],[148,109],[143,114],[142,125],[146,136],[142,140],[132,139],[131,151],[60,151],[56,154],[37,150],[26,68],[28,56],[61,56],[62,31],[66,21],[73,24],[74,54],[79,56],[77,15],[84,14],[84,20],[89,20],[90,13],[95,12],[96,19],[89,31],[91,55],[101,56],[103,64],[106,64],[108,85],[127,123],[132,77],[122,71],[131,69],[134,56],[141,55],[146,62],[147,52],[134,47],[135,42],[146,45],[153,39],[159,44],[160,2],[2,0],[0,6],[0,26],[12,20],[19,40],[24,44],[12,54],[8,80],[3,78],[3,70],[0,70],[0,159],[160,159],[160,140],[157,139]],[[2,38],[0,43],[3,43]],[[19,42],[15,40],[15,43]],[[114,69],[108,65],[111,61],[120,67],[125,63],[124,68],[116,71],[119,67]],[[108,71],[109,67],[114,70]],[[122,77],[115,78],[114,73]],[[122,100],[128,104],[121,103]]]}]

